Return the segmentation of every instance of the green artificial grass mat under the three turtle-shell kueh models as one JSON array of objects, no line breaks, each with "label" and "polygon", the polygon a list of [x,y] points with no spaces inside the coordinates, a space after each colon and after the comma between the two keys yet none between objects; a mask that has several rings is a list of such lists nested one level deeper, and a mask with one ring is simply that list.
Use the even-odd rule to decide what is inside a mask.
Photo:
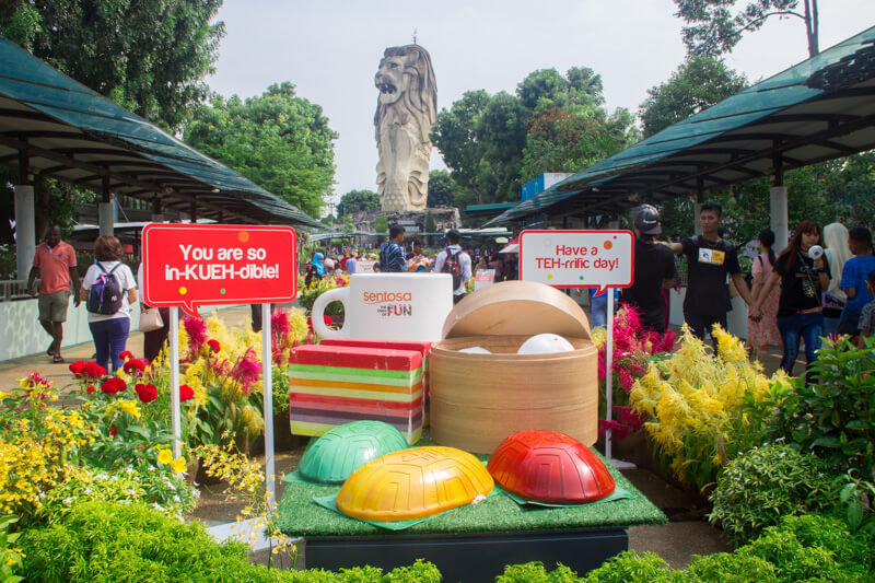
[{"label": "green artificial grass mat under the three turtle-shell kueh models", "polygon": [[[423,431],[419,445],[435,445]],[[598,452],[595,452],[598,455]],[[478,455],[488,459],[488,455]],[[603,458],[604,460],[604,458]],[[520,505],[501,493],[479,504],[468,504],[445,512],[432,520],[404,530],[405,534],[446,533],[514,533],[520,530],[547,530],[567,528],[599,528],[665,524],[665,514],[615,467],[606,464],[618,488],[634,498],[605,504],[545,508]],[[337,514],[319,506],[313,497],[337,495],[340,486],[322,486],[292,481],[287,483],[282,499],[277,504],[278,526],[289,536],[351,536],[386,535],[385,528]]]}]

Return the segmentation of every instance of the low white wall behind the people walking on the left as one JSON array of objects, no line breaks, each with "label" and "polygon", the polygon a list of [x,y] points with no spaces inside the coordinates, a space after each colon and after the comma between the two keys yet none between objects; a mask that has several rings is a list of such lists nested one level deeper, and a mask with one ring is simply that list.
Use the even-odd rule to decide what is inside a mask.
[{"label": "low white wall behind the people walking on the left", "polygon": [[[205,316],[214,310],[233,306],[200,306],[199,312]],[[140,310],[131,310],[131,331],[140,325]],[[91,342],[88,312],[85,303],[73,307],[72,299],[67,311],[67,322],[63,325],[63,342],[61,347]],[[30,357],[44,353],[51,342],[51,337],[39,325],[37,300],[21,300],[16,302],[0,302],[0,361]]]}]

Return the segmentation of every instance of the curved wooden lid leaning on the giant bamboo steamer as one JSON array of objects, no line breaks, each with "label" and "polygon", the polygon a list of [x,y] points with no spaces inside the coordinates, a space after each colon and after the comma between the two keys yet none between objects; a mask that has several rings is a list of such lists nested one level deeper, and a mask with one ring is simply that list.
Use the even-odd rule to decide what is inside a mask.
[{"label": "curved wooden lid leaning on the giant bamboo steamer", "polygon": [[545,333],[592,340],[578,302],[534,281],[502,281],[471,293],[453,307],[443,328],[444,338]]}]

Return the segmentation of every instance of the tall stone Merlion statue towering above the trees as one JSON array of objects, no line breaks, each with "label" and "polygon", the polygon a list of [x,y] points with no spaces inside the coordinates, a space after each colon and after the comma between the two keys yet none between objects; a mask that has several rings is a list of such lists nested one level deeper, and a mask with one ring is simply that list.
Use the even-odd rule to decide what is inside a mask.
[{"label": "tall stone Merlion statue towering above the trees", "polygon": [[425,210],[429,133],[438,115],[438,85],[429,53],[419,45],[389,47],[374,77],[376,184],[384,211]]}]

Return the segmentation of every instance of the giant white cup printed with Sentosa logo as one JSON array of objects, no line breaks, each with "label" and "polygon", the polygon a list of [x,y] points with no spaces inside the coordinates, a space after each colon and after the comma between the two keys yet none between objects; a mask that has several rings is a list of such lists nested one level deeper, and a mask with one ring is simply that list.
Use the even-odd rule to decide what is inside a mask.
[{"label": "giant white cup printed with Sentosa logo", "polygon": [[[323,325],[325,306],[343,304],[339,330]],[[448,273],[353,273],[349,288],[337,288],[313,303],[313,326],[323,338],[371,338],[434,342],[453,310]]]}]

